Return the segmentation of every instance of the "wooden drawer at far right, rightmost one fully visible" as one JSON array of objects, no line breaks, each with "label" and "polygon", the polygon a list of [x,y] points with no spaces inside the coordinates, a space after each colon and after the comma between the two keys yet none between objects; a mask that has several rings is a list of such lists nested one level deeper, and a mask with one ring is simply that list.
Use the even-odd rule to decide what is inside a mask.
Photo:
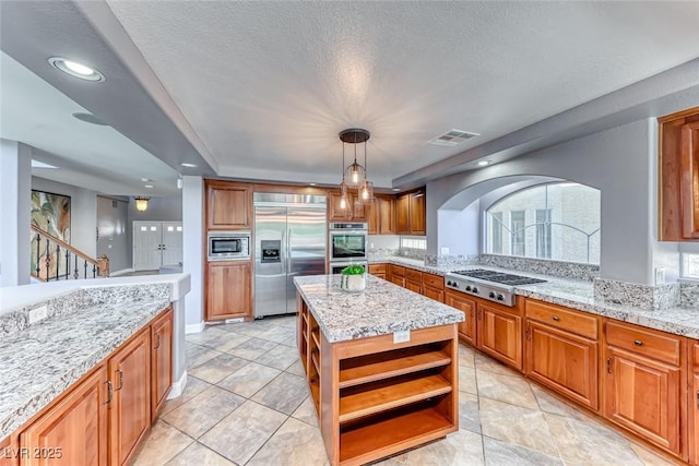
[{"label": "wooden drawer at far right, rightmost one fully visible", "polygon": [[623,322],[607,322],[607,344],[659,361],[679,366],[680,337]]}]

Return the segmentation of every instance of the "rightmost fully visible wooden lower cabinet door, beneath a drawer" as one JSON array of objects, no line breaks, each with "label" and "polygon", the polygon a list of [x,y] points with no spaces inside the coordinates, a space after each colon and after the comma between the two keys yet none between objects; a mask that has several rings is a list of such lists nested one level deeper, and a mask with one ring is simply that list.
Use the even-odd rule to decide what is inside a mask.
[{"label": "rightmost fully visible wooden lower cabinet door, beneath a drawer", "polygon": [[606,358],[606,418],[679,453],[679,368],[612,346]]}]

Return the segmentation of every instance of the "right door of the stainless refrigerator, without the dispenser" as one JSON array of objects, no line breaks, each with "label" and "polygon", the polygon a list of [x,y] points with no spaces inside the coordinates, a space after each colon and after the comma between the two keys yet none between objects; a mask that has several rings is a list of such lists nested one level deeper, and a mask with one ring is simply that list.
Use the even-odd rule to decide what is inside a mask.
[{"label": "right door of the stainless refrigerator, without the dispenser", "polygon": [[296,312],[294,277],[325,273],[325,211],[294,207],[287,217],[286,312]]}]

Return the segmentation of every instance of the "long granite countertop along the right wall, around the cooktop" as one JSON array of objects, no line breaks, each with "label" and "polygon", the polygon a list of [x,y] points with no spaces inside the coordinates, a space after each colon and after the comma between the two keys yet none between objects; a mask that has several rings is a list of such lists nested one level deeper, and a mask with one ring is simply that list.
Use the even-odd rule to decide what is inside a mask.
[{"label": "long granite countertop along the right wall, around the cooktop", "polygon": [[660,310],[652,310],[612,303],[595,298],[592,282],[559,278],[550,275],[533,274],[529,272],[505,270],[485,265],[435,267],[425,265],[424,261],[400,256],[374,259],[369,261],[369,263],[404,265],[441,276],[454,270],[486,268],[542,278],[545,279],[546,283],[518,286],[514,288],[514,292],[517,295],[537,299],[544,302],[560,304],[567,308],[660,330],[675,335],[699,338],[699,308],[675,306]]}]

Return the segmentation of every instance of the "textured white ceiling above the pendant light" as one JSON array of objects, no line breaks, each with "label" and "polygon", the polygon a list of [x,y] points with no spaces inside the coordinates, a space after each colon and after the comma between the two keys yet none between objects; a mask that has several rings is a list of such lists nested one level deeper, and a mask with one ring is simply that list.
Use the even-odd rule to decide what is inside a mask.
[{"label": "textured white ceiling above the pendant light", "polygon": [[[697,2],[108,1],[218,175],[379,186],[699,56]],[[482,135],[426,142],[450,129]]]}]

